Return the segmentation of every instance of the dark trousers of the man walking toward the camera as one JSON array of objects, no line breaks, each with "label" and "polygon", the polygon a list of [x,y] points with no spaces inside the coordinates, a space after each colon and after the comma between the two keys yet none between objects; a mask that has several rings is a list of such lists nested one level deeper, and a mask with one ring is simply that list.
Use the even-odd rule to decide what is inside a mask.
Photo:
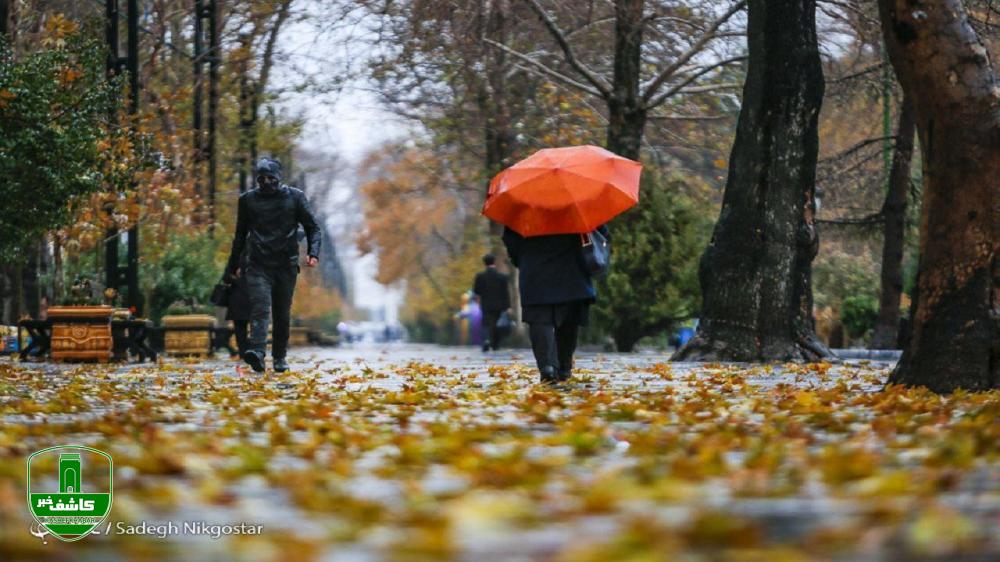
[{"label": "dark trousers of the man walking toward the camera", "polygon": [[247,291],[250,294],[250,343],[249,348],[261,353],[267,351],[268,316],[274,322],[271,356],[284,359],[288,353],[288,332],[292,315],[292,296],[298,266],[247,267]]}]

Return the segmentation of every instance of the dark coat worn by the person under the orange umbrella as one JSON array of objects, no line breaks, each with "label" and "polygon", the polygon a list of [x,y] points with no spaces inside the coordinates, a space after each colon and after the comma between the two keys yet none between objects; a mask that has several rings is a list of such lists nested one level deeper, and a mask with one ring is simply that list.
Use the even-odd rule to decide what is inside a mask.
[{"label": "dark coat worn by the person under the orange umbrella", "polygon": [[[598,230],[611,239],[606,226]],[[518,268],[522,306],[597,299],[594,282],[584,268],[579,234],[525,238],[504,228],[503,243]]]}]

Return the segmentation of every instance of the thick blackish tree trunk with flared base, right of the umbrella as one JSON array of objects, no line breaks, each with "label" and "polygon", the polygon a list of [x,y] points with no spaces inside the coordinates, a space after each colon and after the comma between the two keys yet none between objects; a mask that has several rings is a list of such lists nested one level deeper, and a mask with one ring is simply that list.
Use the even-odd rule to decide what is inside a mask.
[{"label": "thick blackish tree trunk with flared base, right of the umbrella", "polygon": [[824,89],[815,0],[751,0],[749,50],[722,212],[699,271],[701,322],[675,360],[831,356],[812,315]]}]

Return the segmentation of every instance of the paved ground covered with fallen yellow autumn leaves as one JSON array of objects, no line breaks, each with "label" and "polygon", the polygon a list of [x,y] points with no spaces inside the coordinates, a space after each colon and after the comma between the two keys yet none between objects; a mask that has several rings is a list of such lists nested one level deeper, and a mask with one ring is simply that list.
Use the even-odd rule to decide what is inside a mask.
[{"label": "paved ground covered with fallen yellow autumn leaves", "polygon": [[[885,364],[306,350],[293,372],[0,359],[2,560],[996,560],[1000,393]],[[25,457],[112,454],[110,520],[261,536],[29,533]]]}]

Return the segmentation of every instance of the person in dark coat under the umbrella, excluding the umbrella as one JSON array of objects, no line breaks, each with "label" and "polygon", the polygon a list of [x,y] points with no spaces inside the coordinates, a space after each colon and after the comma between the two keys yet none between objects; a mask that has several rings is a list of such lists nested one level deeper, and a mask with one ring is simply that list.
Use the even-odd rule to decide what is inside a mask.
[{"label": "person in dark coat under the umbrella, excluding the umbrella", "polygon": [[[597,229],[609,241],[608,227]],[[580,326],[597,300],[594,281],[584,267],[580,234],[525,238],[504,228],[503,242],[518,268],[521,316],[528,324],[531,350],[543,383],[569,380]]]}]

